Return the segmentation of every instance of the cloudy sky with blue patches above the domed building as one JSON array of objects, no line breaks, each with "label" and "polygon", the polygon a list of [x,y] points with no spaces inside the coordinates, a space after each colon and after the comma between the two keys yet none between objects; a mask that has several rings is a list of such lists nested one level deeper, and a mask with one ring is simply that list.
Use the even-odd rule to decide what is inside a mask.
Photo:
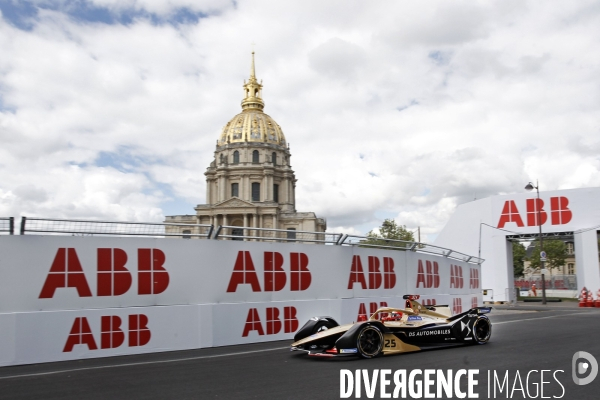
[{"label": "cloudy sky with blue patches above the domed building", "polygon": [[296,208],[433,241],[455,208],[600,186],[600,2],[0,0],[0,216],[205,203],[256,52]]}]

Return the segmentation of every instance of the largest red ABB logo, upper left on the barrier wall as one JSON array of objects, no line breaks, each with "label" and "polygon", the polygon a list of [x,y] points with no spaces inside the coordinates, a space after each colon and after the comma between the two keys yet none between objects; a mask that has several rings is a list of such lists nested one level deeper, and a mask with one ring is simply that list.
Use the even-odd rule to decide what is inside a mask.
[{"label": "largest red ABB logo, upper left on the barrier wall", "polygon": [[[98,249],[98,296],[120,296],[131,287],[131,272],[125,268],[127,253],[122,249]],[[169,286],[169,273],[163,268],[165,253],[159,249],[138,249],[138,294],[159,294]],[[59,248],[40,292],[40,299],[54,297],[56,289],[73,288],[79,297],[91,297],[79,257],[74,248]]]}]

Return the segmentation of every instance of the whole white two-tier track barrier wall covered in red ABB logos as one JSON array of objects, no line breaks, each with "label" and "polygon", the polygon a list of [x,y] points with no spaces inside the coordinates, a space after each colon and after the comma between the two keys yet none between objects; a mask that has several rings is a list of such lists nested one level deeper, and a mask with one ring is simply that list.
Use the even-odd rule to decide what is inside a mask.
[{"label": "whole white two-tier track barrier wall covered in red ABB logos", "polygon": [[0,365],[291,339],[404,294],[482,304],[479,264],[356,246],[168,238],[0,238]]}]

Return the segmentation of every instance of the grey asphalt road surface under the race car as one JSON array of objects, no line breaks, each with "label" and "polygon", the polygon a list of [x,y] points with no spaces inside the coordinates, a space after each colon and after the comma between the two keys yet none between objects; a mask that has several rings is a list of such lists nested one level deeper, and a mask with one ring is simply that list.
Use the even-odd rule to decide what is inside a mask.
[{"label": "grey asphalt road surface under the race car", "polygon": [[[289,342],[270,342],[3,367],[0,399],[339,399],[340,370],[355,373],[357,369],[367,370],[369,376],[381,369],[392,374],[414,369],[450,369],[454,374],[460,369],[478,369],[474,391],[483,399],[542,398],[542,394],[600,398],[600,376],[585,386],[576,385],[571,376],[575,352],[586,351],[600,361],[600,309],[533,305],[520,310],[526,311],[499,309],[490,314],[493,333],[486,345],[372,360],[309,359],[289,352]],[[550,372],[542,376],[541,370]],[[493,385],[494,373],[500,382],[507,379],[502,391]],[[460,382],[460,390],[466,391],[466,379]],[[392,381],[387,393],[394,387]],[[375,393],[379,398],[379,385]],[[368,398],[364,386],[361,395]],[[357,398],[356,392],[350,398]]]}]

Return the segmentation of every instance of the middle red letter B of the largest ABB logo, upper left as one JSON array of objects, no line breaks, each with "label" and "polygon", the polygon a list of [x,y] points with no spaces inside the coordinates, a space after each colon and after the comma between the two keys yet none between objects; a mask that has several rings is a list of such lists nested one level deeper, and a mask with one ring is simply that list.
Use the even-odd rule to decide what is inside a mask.
[{"label": "middle red letter B of the largest ABB logo, upper left", "polygon": [[98,296],[120,296],[131,287],[125,268],[127,253],[121,249],[98,249]]}]

